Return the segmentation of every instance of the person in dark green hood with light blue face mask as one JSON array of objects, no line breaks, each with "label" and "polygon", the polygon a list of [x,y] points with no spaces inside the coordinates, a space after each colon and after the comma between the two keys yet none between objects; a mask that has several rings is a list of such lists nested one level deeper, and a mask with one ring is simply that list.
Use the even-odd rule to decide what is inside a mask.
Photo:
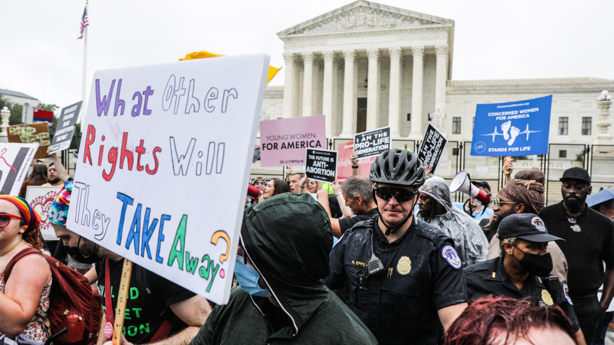
[{"label": "person in dark green hood with light blue face mask", "polygon": [[235,263],[240,287],[190,344],[377,344],[320,281],[332,244],[328,215],[309,195],[283,193],[249,207]]}]

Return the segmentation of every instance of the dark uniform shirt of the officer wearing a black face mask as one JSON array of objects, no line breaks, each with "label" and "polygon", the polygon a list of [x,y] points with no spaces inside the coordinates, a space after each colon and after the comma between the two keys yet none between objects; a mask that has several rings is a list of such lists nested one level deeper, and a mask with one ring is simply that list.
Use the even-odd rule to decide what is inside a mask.
[{"label": "dark uniform shirt of the officer wearing a black face mask", "polygon": [[572,300],[569,298],[563,286],[558,293],[550,292],[537,276],[527,277],[523,289],[518,291],[516,285],[508,279],[503,268],[503,259],[498,257],[483,262],[478,262],[464,269],[467,278],[467,296],[470,301],[491,294],[510,298],[534,298],[540,304],[551,306],[558,305],[572,323],[573,330],[578,331],[580,324],[573,311]]}]

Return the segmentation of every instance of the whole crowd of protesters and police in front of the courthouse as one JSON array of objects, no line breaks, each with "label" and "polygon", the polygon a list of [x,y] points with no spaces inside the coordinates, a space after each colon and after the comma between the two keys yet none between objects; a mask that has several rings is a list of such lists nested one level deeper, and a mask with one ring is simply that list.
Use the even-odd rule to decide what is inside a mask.
[{"label": "whole crowd of protesters and police in front of the courthouse", "polygon": [[[45,246],[22,196],[0,196],[0,341],[49,339],[48,263],[15,259],[34,248],[99,293],[101,327],[89,343],[103,344],[125,259],[66,228],[73,182],[51,158],[25,185],[63,185],[49,211],[61,243]],[[567,169],[563,200],[545,207],[543,172],[511,178],[506,160],[490,204],[453,203],[446,181],[409,150],[379,154],[369,176],[356,158],[342,184],[292,168],[285,180],[254,180],[262,193],[247,200],[227,304],[134,265],[122,344],[604,344],[614,193],[591,195],[585,169]],[[473,183],[490,195],[488,182]]]}]

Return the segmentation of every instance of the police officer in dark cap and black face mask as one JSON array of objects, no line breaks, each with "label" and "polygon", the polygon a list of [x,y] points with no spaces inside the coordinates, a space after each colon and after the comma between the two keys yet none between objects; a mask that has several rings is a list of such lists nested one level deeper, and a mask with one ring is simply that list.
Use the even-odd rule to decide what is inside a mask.
[{"label": "police officer in dark cap and black face mask", "polygon": [[572,300],[558,278],[550,275],[553,263],[546,246],[561,238],[548,234],[543,220],[530,213],[508,215],[497,234],[501,240],[499,257],[465,268],[469,300],[494,294],[556,304],[569,317],[578,344],[586,344]]}]

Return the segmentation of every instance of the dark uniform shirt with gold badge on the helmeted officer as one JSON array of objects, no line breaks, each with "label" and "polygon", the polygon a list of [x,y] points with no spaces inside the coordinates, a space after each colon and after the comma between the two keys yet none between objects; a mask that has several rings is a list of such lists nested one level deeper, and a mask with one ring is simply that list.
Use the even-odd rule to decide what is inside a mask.
[{"label": "dark uniform shirt with gold badge on the helmeted officer", "polygon": [[[436,344],[443,328],[438,309],[467,301],[465,276],[454,242],[415,217],[406,233],[388,243],[378,215],[356,223],[330,253],[330,289],[349,284],[349,307],[381,344]],[[368,274],[373,250],[384,270]]]}]

